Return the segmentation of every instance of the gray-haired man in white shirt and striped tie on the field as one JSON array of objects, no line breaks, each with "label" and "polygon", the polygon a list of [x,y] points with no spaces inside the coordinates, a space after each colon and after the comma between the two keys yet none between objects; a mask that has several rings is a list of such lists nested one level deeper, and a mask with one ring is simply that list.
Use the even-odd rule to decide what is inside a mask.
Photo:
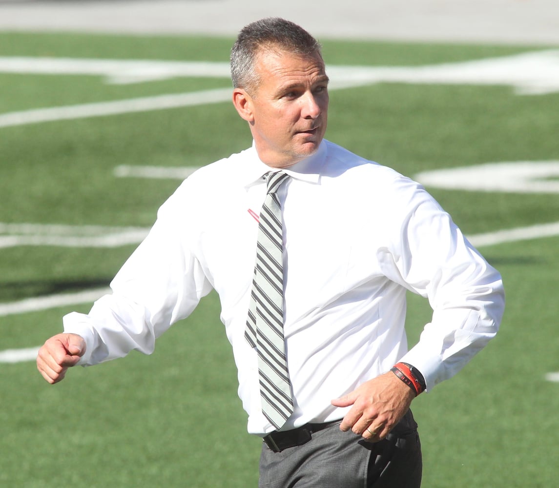
[{"label": "gray-haired man in white shirt and striped tie on the field", "polygon": [[[500,275],[419,184],[323,139],[328,77],[301,27],[245,27],[231,75],[252,147],[183,182],[112,295],[65,316],[37,367],[55,383],[151,353],[215,288],[248,431],[264,438],[260,486],[419,486],[411,401],[495,335]],[[433,307],[410,350],[406,290]]]}]

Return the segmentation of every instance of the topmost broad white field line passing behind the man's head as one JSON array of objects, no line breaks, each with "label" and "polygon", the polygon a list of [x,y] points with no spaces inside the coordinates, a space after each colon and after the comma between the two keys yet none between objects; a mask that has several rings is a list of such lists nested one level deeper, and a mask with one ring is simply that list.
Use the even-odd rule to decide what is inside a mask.
[{"label": "topmost broad white field line passing behind the man's head", "polygon": [[[559,50],[423,66],[327,65],[334,88],[373,83],[510,86],[519,94],[559,91]],[[108,83],[178,77],[230,78],[229,64],[212,61],[0,57],[0,73],[104,76]]]}]

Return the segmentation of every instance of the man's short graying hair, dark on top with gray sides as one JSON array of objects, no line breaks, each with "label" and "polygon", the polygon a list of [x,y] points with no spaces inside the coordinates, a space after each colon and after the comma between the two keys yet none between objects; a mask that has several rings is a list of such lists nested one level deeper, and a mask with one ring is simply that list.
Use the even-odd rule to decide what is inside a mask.
[{"label": "man's short graying hair, dark on top with gray sides", "polygon": [[239,32],[231,49],[231,80],[234,88],[249,91],[258,86],[255,61],[264,50],[287,51],[298,56],[322,56],[320,43],[296,23],[279,17],[249,23]]}]

